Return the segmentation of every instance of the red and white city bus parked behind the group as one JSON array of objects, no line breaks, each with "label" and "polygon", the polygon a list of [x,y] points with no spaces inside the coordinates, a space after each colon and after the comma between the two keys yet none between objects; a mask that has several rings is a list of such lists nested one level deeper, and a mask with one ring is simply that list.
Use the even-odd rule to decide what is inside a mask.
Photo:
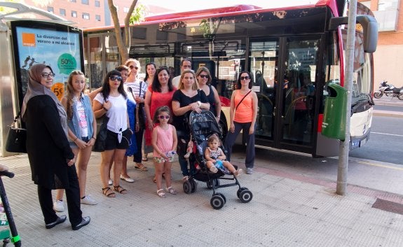
[{"label": "red and white city bus parked behind the group", "polygon": [[[210,69],[213,85],[226,99],[238,73],[250,71],[259,97],[256,144],[334,156],[339,140],[323,136],[321,126],[327,85],[344,85],[346,8],[338,0],[283,0],[271,8],[238,5],[146,17],[130,27],[130,57],[143,65],[172,66],[175,75],[180,61],[190,58],[195,71]],[[357,13],[373,16],[360,3]],[[355,32],[351,148],[363,145],[371,129],[374,65],[368,46],[376,47],[377,34],[367,24]],[[115,30],[83,34],[86,74],[97,88],[107,71],[121,64]],[[228,108],[223,111],[228,118]],[[224,129],[226,124],[221,122]]]}]

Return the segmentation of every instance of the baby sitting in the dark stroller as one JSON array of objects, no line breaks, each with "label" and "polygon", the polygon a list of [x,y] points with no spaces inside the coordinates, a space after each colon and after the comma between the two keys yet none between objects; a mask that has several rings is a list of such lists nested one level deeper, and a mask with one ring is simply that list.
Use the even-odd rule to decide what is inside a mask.
[{"label": "baby sitting in the dark stroller", "polygon": [[207,139],[207,148],[205,149],[205,160],[206,167],[212,173],[216,174],[218,169],[226,173],[226,169],[231,172],[234,176],[240,176],[242,174],[242,169],[235,169],[233,165],[226,161],[226,156],[223,150],[219,147],[221,146],[221,140],[217,136],[217,134],[212,134]]}]

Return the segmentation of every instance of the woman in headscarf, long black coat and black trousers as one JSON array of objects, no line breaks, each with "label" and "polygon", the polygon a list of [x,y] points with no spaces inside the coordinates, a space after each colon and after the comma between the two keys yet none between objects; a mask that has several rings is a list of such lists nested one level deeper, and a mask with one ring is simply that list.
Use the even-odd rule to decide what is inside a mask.
[{"label": "woman in headscarf, long black coat and black trousers", "polygon": [[52,190],[64,189],[71,227],[78,230],[90,223],[90,217],[82,217],[76,159],[67,139],[67,114],[50,90],[54,76],[46,64],[35,64],[29,70],[21,110],[27,127],[27,153],[46,229],[64,223],[67,218],[57,216],[52,203]]}]

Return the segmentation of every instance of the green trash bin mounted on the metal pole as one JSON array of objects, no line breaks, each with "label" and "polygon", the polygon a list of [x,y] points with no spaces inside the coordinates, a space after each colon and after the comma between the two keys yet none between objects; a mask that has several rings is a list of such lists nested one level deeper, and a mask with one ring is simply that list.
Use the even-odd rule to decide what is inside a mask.
[{"label": "green trash bin mounted on the metal pole", "polygon": [[325,99],[322,135],[344,141],[346,136],[347,90],[338,84],[327,86],[329,96]]}]

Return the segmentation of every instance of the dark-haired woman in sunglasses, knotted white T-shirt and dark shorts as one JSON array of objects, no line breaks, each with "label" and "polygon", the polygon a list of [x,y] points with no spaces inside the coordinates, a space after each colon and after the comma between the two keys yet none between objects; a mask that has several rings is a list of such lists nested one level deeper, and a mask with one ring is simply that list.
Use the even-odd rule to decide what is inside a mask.
[{"label": "dark-haired woman in sunglasses, knotted white T-shirt and dark shorts", "polygon": [[102,193],[107,197],[115,197],[115,193],[109,188],[108,174],[109,164],[114,159],[114,190],[120,194],[126,194],[119,185],[123,158],[126,149],[130,145],[132,130],[128,118],[127,94],[123,89],[121,72],[113,70],[107,73],[102,85],[102,92],[95,96],[93,111],[96,118],[107,115],[107,139],[104,152],[101,153],[101,181]]}]

